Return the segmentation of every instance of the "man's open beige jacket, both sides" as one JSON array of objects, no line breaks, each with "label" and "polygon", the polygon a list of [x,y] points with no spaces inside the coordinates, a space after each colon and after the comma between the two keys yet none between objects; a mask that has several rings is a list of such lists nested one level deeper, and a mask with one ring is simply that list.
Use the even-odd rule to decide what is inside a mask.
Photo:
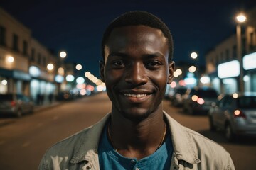
[{"label": "man's open beige jacket, both sides", "polygon": [[[198,132],[183,127],[164,112],[171,130],[174,153],[171,170],[235,169],[230,154],[220,145]],[[39,170],[100,169],[97,154],[100,135],[110,114],[67,139],[50,147],[43,156]]]}]

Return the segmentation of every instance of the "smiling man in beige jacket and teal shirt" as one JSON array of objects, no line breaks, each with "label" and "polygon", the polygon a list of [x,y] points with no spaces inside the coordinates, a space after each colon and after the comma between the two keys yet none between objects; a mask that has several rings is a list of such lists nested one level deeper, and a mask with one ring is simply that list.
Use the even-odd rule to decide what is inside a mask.
[{"label": "smiling man in beige jacket and teal shirt", "polygon": [[163,111],[174,73],[169,28],[144,11],[105,30],[100,74],[112,112],[48,149],[39,169],[235,169],[230,154]]}]

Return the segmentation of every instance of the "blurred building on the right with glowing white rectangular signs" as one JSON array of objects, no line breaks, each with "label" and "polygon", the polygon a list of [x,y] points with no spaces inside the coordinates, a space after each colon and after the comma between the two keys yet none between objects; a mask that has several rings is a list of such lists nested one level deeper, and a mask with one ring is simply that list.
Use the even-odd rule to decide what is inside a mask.
[{"label": "blurred building on the right with glowing white rectangular signs", "polygon": [[256,8],[247,11],[246,16],[247,22],[240,25],[241,56],[235,34],[206,54],[206,74],[220,93],[256,91]]}]

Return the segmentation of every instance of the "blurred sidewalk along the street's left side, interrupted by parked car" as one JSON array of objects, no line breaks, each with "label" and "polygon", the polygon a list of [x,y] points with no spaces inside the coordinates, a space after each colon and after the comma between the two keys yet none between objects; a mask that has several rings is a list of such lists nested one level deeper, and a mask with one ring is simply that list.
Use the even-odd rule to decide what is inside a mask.
[{"label": "blurred sidewalk along the street's left side, interrupted by parked car", "polygon": [[[53,101],[53,103],[45,103],[43,105],[35,105],[34,106],[34,109],[33,109],[33,113],[38,113],[38,112],[41,112],[41,111],[46,111],[48,108],[53,108],[55,106],[58,106],[60,104],[62,104],[63,101]],[[9,123],[14,123],[18,118],[14,116],[4,116],[2,115],[0,117],[0,127],[3,126],[3,125],[8,125]]]}]

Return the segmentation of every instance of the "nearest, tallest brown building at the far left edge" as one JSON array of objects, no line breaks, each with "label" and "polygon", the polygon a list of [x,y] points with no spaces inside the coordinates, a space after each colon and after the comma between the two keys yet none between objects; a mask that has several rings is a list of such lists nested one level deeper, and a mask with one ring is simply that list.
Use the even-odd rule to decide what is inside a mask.
[{"label": "nearest, tallest brown building at the far left edge", "polygon": [[29,94],[31,30],[0,8],[0,92]]}]

